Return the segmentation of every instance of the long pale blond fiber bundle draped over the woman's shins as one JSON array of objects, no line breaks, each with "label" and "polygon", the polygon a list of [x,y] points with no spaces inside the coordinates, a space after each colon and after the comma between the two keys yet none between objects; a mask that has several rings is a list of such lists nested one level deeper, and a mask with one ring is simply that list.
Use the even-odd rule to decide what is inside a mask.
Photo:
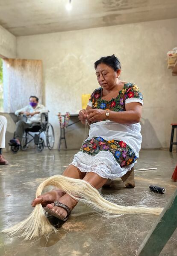
[{"label": "long pale blond fiber bundle draped over the woman's shins", "polygon": [[[104,199],[97,189],[94,189],[89,183],[84,180],[73,179],[62,175],[54,175],[42,182],[37,190],[36,197],[41,195],[44,188],[54,186],[57,189],[65,191],[77,201],[93,207],[101,213],[112,214],[155,214],[159,215],[162,208],[150,208],[144,206],[121,206]],[[3,230],[9,235],[18,235],[25,240],[32,240],[41,236],[48,236],[50,233],[57,233],[57,229],[50,224],[45,217],[45,212],[41,204],[37,204],[27,219],[19,222],[9,229]]]}]

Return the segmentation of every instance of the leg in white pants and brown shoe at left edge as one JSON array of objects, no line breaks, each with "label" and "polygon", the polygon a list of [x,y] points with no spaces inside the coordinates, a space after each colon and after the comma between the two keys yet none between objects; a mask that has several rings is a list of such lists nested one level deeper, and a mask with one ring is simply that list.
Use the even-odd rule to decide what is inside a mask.
[{"label": "leg in white pants and brown shoe at left edge", "polygon": [[6,128],[7,128],[7,119],[5,116],[0,116],[0,165],[9,164],[2,155],[2,148],[5,148]]}]

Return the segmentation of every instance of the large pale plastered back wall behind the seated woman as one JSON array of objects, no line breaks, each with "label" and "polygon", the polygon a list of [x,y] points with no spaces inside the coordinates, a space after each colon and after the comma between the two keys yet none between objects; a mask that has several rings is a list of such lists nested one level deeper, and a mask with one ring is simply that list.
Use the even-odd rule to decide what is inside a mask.
[{"label": "large pale plastered back wall behind the seated woman", "polygon": [[[177,43],[177,19],[17,37],[17,58],[41,59],[45,105],[59,139],[56,114],[81,109],[81,95],[98,87],[93,63],[115,54],[121,79],[135,82],[144,95],[143,148],[168,147],[171,122],[177,121],[177,77],[167,69],[166,52]],[[70,148],[78,148],[85,130],[69,128]]]}]

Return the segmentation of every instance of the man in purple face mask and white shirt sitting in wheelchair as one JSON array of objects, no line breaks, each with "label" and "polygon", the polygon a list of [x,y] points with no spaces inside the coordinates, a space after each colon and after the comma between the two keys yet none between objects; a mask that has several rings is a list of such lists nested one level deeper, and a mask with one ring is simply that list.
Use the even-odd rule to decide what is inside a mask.
[{"label": "man in purple face mask and white shirt sitting in wheelchair", "polygon": [[[27,117],[27,122],[20,120],[17,122],[14,138],[10,140],[11,146],[21,146],[21,140],[25,131],[30,131],[32,128],[39,126],[41,124],[41,114],[48,113],[46,107],[38,103],[38,98],[36,96],[29,97],[29,105],[26,107],[15,111],[15,115],[24,115]],[[32,130],[33,131],[33,130]]]}]

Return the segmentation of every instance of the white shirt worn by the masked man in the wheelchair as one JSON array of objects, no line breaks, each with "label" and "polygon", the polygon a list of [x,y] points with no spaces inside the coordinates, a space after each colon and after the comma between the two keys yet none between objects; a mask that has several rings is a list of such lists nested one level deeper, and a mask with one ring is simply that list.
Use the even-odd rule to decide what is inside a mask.
[{"label": "white shirt worn by the masked man in the wheelchair", "polygon": [[34,113],[34,112],[40,112],[38,114],[35,114],[34,116],[27,116],[27,123],[32,124],[35,122],[41,122],[41,113],[47,113],[48,110],[44,105],[38,104],[35,108],[31,107],[31,105],[27,105],[26,107],[21,108],[20,110],[15,111],[15,115],[19,115],[20,112],[29,112],[29,113]]}]

